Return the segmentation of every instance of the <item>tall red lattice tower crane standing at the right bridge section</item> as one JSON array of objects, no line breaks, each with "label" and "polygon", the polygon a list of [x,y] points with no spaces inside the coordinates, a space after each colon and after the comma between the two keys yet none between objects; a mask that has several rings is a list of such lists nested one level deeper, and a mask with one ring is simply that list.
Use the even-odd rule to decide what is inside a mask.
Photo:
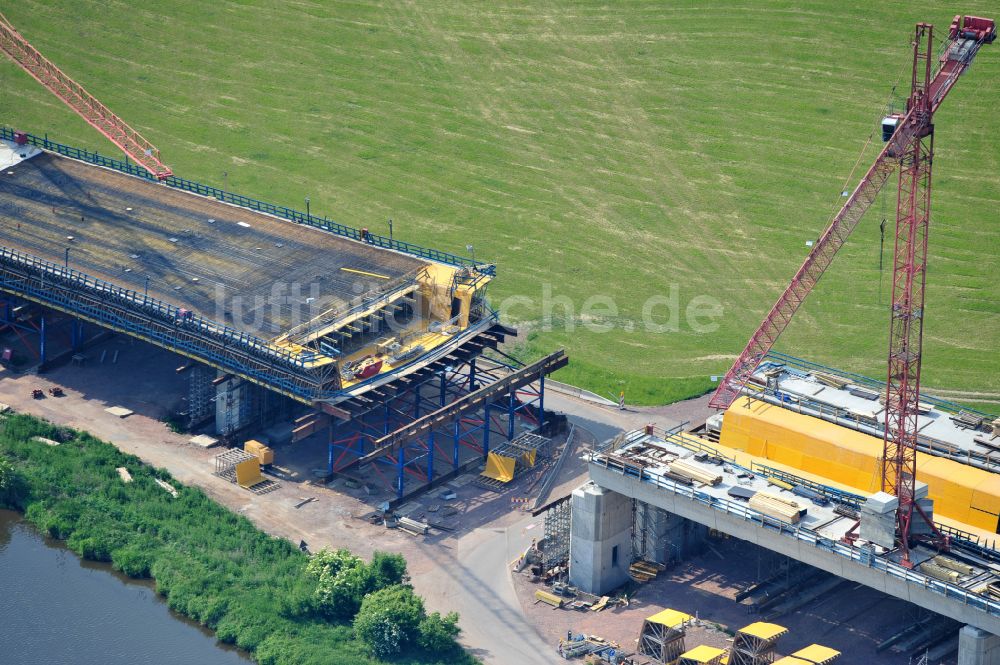
[{"label": "tall red lattice tower crane standing at the right bridge section", "polygon": [[882,152],[844,206],[834,215],[819,242],[792,278],[792,283],[768,312],[709,402],[715,408],[725,409],[742,394],[757,365],[829,267],[837,250],[847,241],[892,174],[898,173],[882,489],[899,499],[896,535],[904,564],[909,563],[909,535],[914,511],[930,521],[914,500],[914,491],[934,113],[958,78],[972,64],[979,48],[994,39],[996,24],[993,20],[956,16],[938,58],[937,70],[933,71],[933,28],[926,23],[917,24],[910,96],[905,114],[890,116],[883,121],[886,143]]}]

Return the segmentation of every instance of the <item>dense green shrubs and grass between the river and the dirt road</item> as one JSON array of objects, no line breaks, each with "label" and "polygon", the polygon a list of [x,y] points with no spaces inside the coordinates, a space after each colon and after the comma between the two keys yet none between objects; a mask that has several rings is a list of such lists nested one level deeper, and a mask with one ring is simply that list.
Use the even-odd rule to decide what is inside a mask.
[{"label": "dense green shrubs and grass between the river and the dirt road", "polygon": [[[117,467],[133,481],[123,483]],[[260,663],[475,662],[455,641],[458,617],[427,614],[402,557],[310,558],[86,433],[23,415],[0,421],[0,506],[23,511],[85,559],[154,579],[171,609]]]}]

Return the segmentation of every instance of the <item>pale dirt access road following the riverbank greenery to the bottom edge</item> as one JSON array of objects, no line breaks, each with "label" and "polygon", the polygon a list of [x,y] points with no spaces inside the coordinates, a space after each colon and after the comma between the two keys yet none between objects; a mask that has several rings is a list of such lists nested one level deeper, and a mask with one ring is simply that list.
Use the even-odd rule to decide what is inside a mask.
[{"label": "pale dirt access road following the riverbank greenery to the bottom edge", "polygon": [[[109,358],[118,351],[117,363],[97,364],[104,348]],[[87,365],[63,366],[43,376],[0,370],[0,402],[86,430],[148,464],[165,468],[180,482],[200,487],[273,535],[295,543],[304,540],[314,550],[346,547],[362,556],[376,549],[403,554],[427,606],[441,612],[458,611],[463,643],[488,665],[560,662],[554,645],[543,641],[525,618],[515,593],[508,564],[532,537],[540,535],[541,527],[539,520],[512,511],[509,497],[484,496],[481,489],[463,487],[455,502],[462,511],[461,528],[454,534],[420,540],[358,519],[371,511],[360,496],[307,481],[282,482],[275,492],[255,496],[213,475],[216,451],[192,446],[189,436],[174,434],[161,422],[183,394],[184,379],[173,372],[180,364],[175,356],[121,338],[88,353],[92,360]],[[65,390],[65,397],[35,400],[30,396],[33,388],[47,392],[57,385]],[[110,406],[124,406],[135,413],[118,418],[105,412]],[[619,427],[640,426],[649,417],[576,403],[554,393],[549,406],[569,412],[580,426],[596,429],[594,438],[613,436]],[[567,461],[571,463],[563,469],[551,496],[583,480],[584,465],[575,459]],[[295,508],[307,496],[317,501]]]}]

